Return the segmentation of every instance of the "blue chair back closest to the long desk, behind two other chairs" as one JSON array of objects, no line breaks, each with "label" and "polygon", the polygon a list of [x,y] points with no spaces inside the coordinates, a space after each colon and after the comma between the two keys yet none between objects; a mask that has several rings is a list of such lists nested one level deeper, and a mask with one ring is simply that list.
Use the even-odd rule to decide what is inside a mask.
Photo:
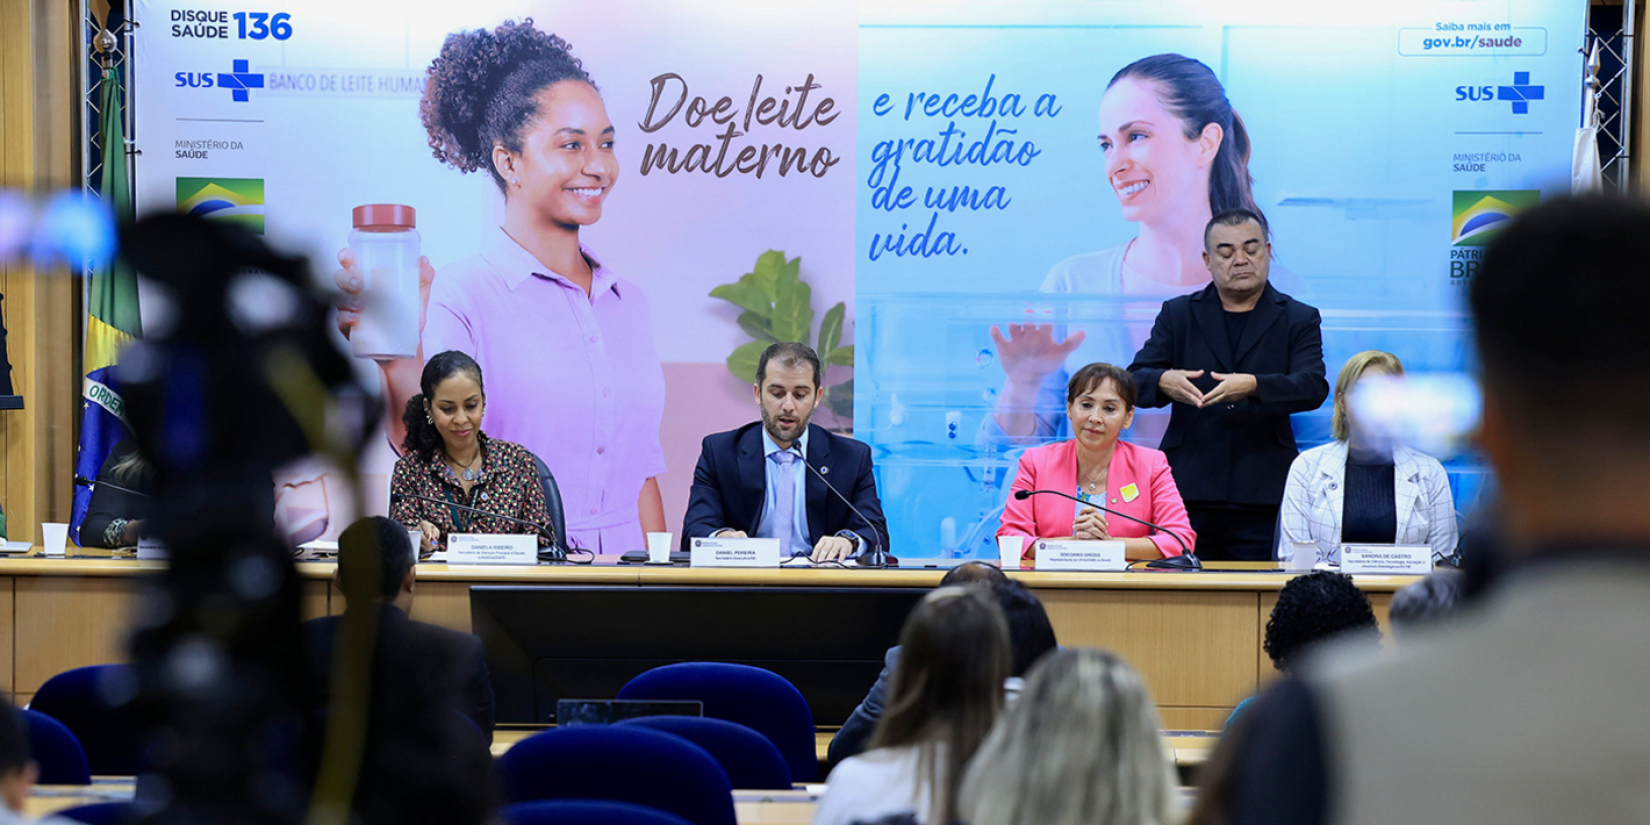
[{"label": "blue chair back closest to the long desk, behind two other chairs", "polygon": [[705,716],[739,723],[767,736],[785,756],[794,782],[818,777],[813,713],[795,685],[771,670],[721,662],[688,662],[648,670],[619,691],[620,700],[698,700]]}]

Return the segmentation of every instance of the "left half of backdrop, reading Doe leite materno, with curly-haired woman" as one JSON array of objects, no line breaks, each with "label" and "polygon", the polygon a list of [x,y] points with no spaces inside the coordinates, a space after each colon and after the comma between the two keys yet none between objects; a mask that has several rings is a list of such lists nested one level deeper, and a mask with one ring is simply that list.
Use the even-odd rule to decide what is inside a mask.
[{"label": "left half of backdrop, reading Doe leite materno, with curly-haired woman", "polygon": [[[680,526],[766,343],[820,346],[817,421],[851,427],[851,5],[137,5],[140,208],[256,221],[338,290],[375,507],[444,350],[602,553]],[[348,523],[340,492],[280,478],[294,538]]]}]

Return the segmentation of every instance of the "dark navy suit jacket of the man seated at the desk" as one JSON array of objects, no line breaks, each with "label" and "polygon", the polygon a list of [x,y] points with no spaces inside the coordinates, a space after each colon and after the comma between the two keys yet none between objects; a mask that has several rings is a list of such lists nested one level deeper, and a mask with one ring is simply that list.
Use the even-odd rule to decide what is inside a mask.
[{"label": "dark navy suit jacket of the man seated at the desk", "polygon": [[[876,497],[876,478],[871,475],[871,447],[808,424],[807,460],[865,513],[865,518],[855,515],[842,498],[825,488],[818,475],[804,469],[808,546],[823,536],[848,530],[865,540],[866,546],[883,544],[888,551],[888,521],[883,518],[883,502]],[[688,549],[690,538],[705,538],[718,530],[756,535],[766,500],[767,455],[762,450],[762,422],[706,436],[700,446],[700,465],[693,469],[688,515],[681,523],[681,549]]]}]

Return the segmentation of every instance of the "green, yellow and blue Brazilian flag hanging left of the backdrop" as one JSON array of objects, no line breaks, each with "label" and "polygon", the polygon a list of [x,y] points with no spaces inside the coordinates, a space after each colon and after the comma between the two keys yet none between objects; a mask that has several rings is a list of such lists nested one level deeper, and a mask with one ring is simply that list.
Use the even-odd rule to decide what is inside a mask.
[{"label": "green, yellow and blue Brazilian flag hanging left of the backdrop", "polygon": [[[116,223],[129,226],[132,223],[132,185],[127,177],[125,127],[120,102],[125,99],[120,87],[120,71],[106,66],[102,73],[99,116],[102,124],[102,186],[104,203],[114,211]],[[109,262],[92,271],[87,287],[86,314],[86,363],[84,389],[81,393],[81,444],[74,462],[74,472],[86,478],[96,478],[104,459],[122,439],[130,437],[125,424],[125,403],[120,399],[120,386],[114,380],[114,363],[125,342],[142,332],[137,312],[137,274],[120,256],[111,256]],[[86,507],[92,493],[86,487],[74,488],[74,515],[71,533],[76,543],[81,540],[81,520],[86,518]]]}]

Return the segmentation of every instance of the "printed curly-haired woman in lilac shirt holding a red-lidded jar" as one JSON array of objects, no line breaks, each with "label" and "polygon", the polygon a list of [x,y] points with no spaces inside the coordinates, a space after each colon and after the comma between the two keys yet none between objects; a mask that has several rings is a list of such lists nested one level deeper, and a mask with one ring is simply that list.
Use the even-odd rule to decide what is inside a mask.
[{"label": "printed curly-haired woman in lilac shirt holding a red-lidded jar", "polygon": [[[619,180],[615,127],[591,74],[530,18],[457,31],[429,66],[419,114],[434,157],[487,172],[505,208],[477,254],[441,271],[406,254],[411,208],[356,211],[335,272],[338,330],[380,366],[391,444],[404,437],[424,355],[470,353],[487,375],[487,431],[549,465],[569,541],[642,546],[644,531],[667,530],[665,378],[647,295],[579,241]],[[401,246],[384,251],[391,238]]]}]

